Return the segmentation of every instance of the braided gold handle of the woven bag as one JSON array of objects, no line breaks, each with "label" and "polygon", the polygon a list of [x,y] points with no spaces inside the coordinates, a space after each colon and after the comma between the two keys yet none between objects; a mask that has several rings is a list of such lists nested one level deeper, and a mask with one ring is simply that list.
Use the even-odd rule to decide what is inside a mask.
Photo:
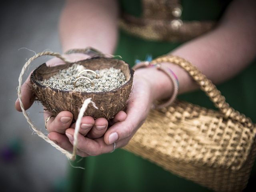
[{"label": "braided gold handle of the woven bag", "polygon": [[246,124],[248,127],[251,127],[252,120],[246,117],[244,114],[240,114],[240,112],[234,110],[234,108],[230,107],[226,102],[224,96],[222,96],[221,92],[216,88],[216,86],[209,80],[200,70],[198,70],[194,65],[185,60],[184,58],[180,58],[178,56],[166,55],[160,56],[154,60],[152,63],[161,63],[161,62],[170,62],[176,64],[183,68],[188,74],[196,81],[196,83],[200,86],[201,90],[203,90],[206,95],[210,98],[210,100],[214,103],[214,106],[220,110],[222,114],[224,114],[225,118],[231,118],[232,120],[236,120],[241,122],[242,124]]}]

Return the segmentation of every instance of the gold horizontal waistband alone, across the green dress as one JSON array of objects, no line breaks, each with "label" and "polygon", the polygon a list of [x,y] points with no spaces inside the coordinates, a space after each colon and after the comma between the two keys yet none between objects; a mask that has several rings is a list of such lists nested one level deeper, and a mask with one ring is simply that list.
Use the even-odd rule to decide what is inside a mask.
[{"label": "gold horizontal waistband alone, across the green dress", "polygon": [[135,18],[124,15],[119,26],[131,35],[154,41],[184,42],[210,31],[216,22],[189,21],[180,19],[170,21]]}]

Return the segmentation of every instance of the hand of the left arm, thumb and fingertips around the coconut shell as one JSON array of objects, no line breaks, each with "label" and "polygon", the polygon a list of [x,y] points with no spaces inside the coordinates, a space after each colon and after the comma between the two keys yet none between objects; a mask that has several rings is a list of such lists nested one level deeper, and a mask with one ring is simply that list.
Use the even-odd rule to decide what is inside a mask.
[{"label": "hand of the left arm, thumb and fingertips around the coconut shell", "polygon": [[[76,62],[79,60],[84,60],[88,58],[89,56],[86,54],[80,54],[80,53],[75,53],[75,54],[66,54],[63,55],[64,58],[71,62]],[[53,58],[46,62],[47,66],[56,66],[56,65],[61,65],[64,64],[64,61],[62,61],[60,58]],[[32,72],[31,72],[32,73]],[[30,73],[30,74],[31,74]],[[30,108],[30,106],[34,102],[34,97],[32,95],[32,90],[31,90],[31,84],[30,84],[30,76],[26,79],[24,84],[22,85],[21,88],[21,93],[22,93],[22,102],[24,104],[25,110]],[[22,111],[20,108],[20,102],[17,99],[15,102],[15,107],[16,110]],[[123,112],[124,113],[124,112]],[[44,111],[44,120],[46,120],[49,116],[52,116],[53,114]],[[123,119],[123,115],[117,116],[117,119]],[[73,115],[69,111],[62,111],[60,112],[56,117],[52,117],[47,121],[46,127],[49,132],[57,132],[59,134],[65,134],[65,130],[67,128],[74,128],[75,124],[72,124],[72,118]],[[88,132],[89,134],[87,135],[89,138],[99,138],[104,135],[108,127],[108,121],[104,118],[98,118],[94,120],[90,116],[86,116],[82,120],[81,128],[80,128],[80,134],[82,135],[87,135]]]}]

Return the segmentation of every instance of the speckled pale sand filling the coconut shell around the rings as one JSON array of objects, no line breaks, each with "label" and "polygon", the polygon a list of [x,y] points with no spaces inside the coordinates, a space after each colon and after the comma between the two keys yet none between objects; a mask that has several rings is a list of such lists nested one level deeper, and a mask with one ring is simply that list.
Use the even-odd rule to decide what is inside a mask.
[{"label": "speckled pale sand filling the coconut shell around the rings", "polygon": [[120,69],[116,68],[106,68],[101,70],[95,70],[98,75],[91,72],[84,72],[81,76],[88,77],[94,82],[94,86],[86,80],[80,79],[76,82],[76,87],[74,87],[74,82],[77,78],[78,72],[82,71],[84,66],[73,64],[71,67],[60,70],[57,74],[45,79],[44,81],[39,81],[40,84],[55,88],[59,90],[67,91],[80,91],[80,92],[103,92],[110,91],[122,86],[126,83],[126,78],[124,73]]}]

